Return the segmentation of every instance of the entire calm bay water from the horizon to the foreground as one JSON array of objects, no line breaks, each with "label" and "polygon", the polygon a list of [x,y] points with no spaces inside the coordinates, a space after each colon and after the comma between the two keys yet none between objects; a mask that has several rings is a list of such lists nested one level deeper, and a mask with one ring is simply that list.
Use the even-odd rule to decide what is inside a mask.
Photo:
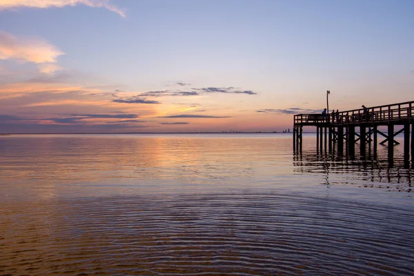
[{"label": "entire calm bay water from the horizon to the foreground", "polygon": [[402,146],[304,136],[0,137],[0,275],[412,275]]}]

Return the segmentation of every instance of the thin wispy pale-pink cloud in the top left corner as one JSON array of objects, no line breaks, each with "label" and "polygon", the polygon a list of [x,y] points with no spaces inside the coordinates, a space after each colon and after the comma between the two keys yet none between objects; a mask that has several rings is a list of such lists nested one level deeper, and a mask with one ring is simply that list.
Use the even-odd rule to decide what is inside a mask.
[{"label": "thin wispy pale-pink cloud in the top left corner", "polygon": [[63,8],[64,6],[84,5],[92,8],[106,8],[126,17],[125,10],[110,3],[110,0],[0,0],[0,10],[18,8]]}]

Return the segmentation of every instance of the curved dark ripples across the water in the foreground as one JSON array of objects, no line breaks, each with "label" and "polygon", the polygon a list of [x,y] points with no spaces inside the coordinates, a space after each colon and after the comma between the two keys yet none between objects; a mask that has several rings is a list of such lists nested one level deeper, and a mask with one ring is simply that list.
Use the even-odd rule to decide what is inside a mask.
[{"label": "curved dark ripples across the water in the foreground", "polygon": [[8,203],[0,275],[412,275],[412,221],[274,193]]}]

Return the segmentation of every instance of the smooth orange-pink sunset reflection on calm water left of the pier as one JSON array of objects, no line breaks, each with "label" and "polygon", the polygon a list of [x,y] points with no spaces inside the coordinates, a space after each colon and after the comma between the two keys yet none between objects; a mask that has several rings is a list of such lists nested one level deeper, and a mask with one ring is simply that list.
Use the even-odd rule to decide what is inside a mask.
[{"label": "smooth orange-pink sunset reflection on calm water left of the pier", "polygon": [[[290,139],[272,136],[34,135],[2,139],[10,199],[204,193],[290,177]],[[269,148],[270,147],[270,148]],[[284,184],[282,183],[281,186]]]}]

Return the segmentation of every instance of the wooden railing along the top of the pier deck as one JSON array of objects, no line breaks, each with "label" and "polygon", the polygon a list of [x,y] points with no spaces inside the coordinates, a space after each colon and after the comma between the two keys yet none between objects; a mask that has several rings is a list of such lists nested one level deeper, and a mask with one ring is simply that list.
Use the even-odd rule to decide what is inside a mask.
[{"label": "wooden railing along the top of the pier deck", "polygon": [[385,106],[373,106],[342,112],[322,114],[298,114],[294,116],[294,124],[315,126],[317,124],[364,124],[389,121],[411,121],[414,119],[414,101],[393,103]]}]

